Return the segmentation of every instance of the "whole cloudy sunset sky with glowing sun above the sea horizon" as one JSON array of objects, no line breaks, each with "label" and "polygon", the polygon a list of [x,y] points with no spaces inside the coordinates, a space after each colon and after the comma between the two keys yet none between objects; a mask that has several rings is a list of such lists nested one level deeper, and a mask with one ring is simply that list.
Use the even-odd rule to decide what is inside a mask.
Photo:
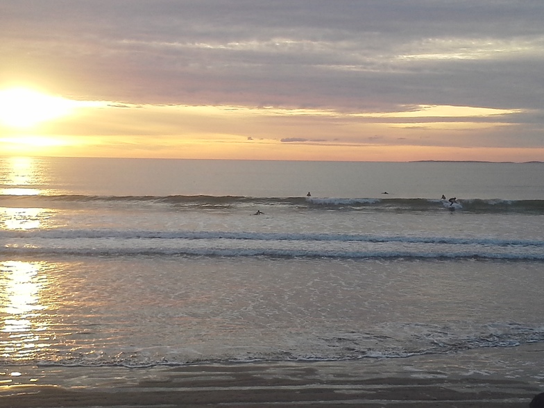
[{"label": "whole cloudy sunset sky with glowing sun above the sea horizon", "polygon": [[0,0],[0,155],[544,161],[543,0]]}]

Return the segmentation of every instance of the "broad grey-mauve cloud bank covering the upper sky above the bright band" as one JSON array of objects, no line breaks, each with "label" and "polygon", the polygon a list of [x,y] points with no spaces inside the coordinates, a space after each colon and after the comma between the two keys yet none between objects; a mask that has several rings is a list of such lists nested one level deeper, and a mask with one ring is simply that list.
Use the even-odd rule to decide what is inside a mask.
[{"label": "broad grey-mauve cloud bank covering the upper sky above the bright band", "polygon": [[82,85],[115,83],[115,100],[367,108],[474,99],[503,106],[496,98],[507,90],[510,98],[541,96],[507,80],[516,67],[517,85],[525,87],[542,71],[544,6],[536,1],[64,5],[4,6],[4,48],[13,56],[20,47],[31,60],[50,55],[51,68],[70,69]]}]

